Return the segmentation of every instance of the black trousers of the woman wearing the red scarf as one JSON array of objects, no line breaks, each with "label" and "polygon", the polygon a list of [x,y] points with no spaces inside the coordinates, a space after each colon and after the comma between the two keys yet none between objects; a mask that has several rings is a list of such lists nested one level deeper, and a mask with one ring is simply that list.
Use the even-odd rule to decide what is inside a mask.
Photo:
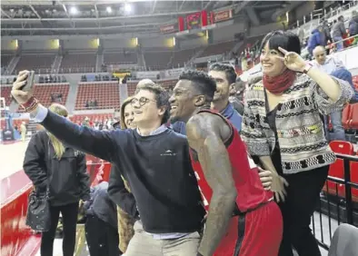
[{"label": "black trousers of the woman wearing the red scarf", "polygon": [[289,182],[287,197],[279,206],[283,214],[283,241],[279,256],[293,256],[294,248],[300,256],[321,256],[317,241],[310,229],[311,217],[320,199],[329,166],[307,172],[285,175],[279,153],[274,153],[273,164]]}]

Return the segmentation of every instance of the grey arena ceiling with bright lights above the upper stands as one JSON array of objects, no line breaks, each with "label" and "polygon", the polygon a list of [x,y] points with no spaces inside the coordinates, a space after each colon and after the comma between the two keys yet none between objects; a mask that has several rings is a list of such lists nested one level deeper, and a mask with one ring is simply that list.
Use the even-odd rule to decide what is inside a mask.
[{"label": "grey arena ceiling with bright lights above the upper stands", "polygon": [[275,14],[284,14],[297,3],[302,2],[2,0],[1,34],[159,33],[161,26],[174,24],[178,16],[228,8],[234,10],[236,21],[249,19],[252,25],[260,25],[273,22]]}]

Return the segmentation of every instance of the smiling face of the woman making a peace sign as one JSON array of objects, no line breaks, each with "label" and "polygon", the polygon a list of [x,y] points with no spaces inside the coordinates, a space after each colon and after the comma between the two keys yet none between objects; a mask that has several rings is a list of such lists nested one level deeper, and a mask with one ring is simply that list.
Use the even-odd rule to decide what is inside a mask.
[{"label": "smiling face of the woman making a peace sign", "polygon": [[278,56],[283,56],[283,54],[278,50],[270,49],[269,43],[267,42],[260,55],[260,62],[264,74],[274,77],[283,73],[286,66],[281,59],[277,58]]}]

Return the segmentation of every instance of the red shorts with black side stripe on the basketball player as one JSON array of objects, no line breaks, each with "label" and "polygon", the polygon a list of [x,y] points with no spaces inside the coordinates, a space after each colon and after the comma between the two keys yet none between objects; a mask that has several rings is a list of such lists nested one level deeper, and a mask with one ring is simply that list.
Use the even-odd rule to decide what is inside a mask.
[{"label": "red shorts with black side stripe on the basketball player", "polygon": [[283,238],[283,217],[275,202],[234,216],[214,256],[277,256]]}]

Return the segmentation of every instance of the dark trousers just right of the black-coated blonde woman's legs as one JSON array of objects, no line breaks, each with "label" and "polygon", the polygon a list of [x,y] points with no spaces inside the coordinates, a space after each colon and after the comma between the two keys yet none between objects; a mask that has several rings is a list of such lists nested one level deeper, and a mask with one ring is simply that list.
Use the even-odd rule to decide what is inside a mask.
[{"label": "dark trousers just right of the black-coated blonde woman's legs", "polygon": [[94,215],[87,215],[85,239],[91,256],[118,256],[119,235],[117,229]]}]

